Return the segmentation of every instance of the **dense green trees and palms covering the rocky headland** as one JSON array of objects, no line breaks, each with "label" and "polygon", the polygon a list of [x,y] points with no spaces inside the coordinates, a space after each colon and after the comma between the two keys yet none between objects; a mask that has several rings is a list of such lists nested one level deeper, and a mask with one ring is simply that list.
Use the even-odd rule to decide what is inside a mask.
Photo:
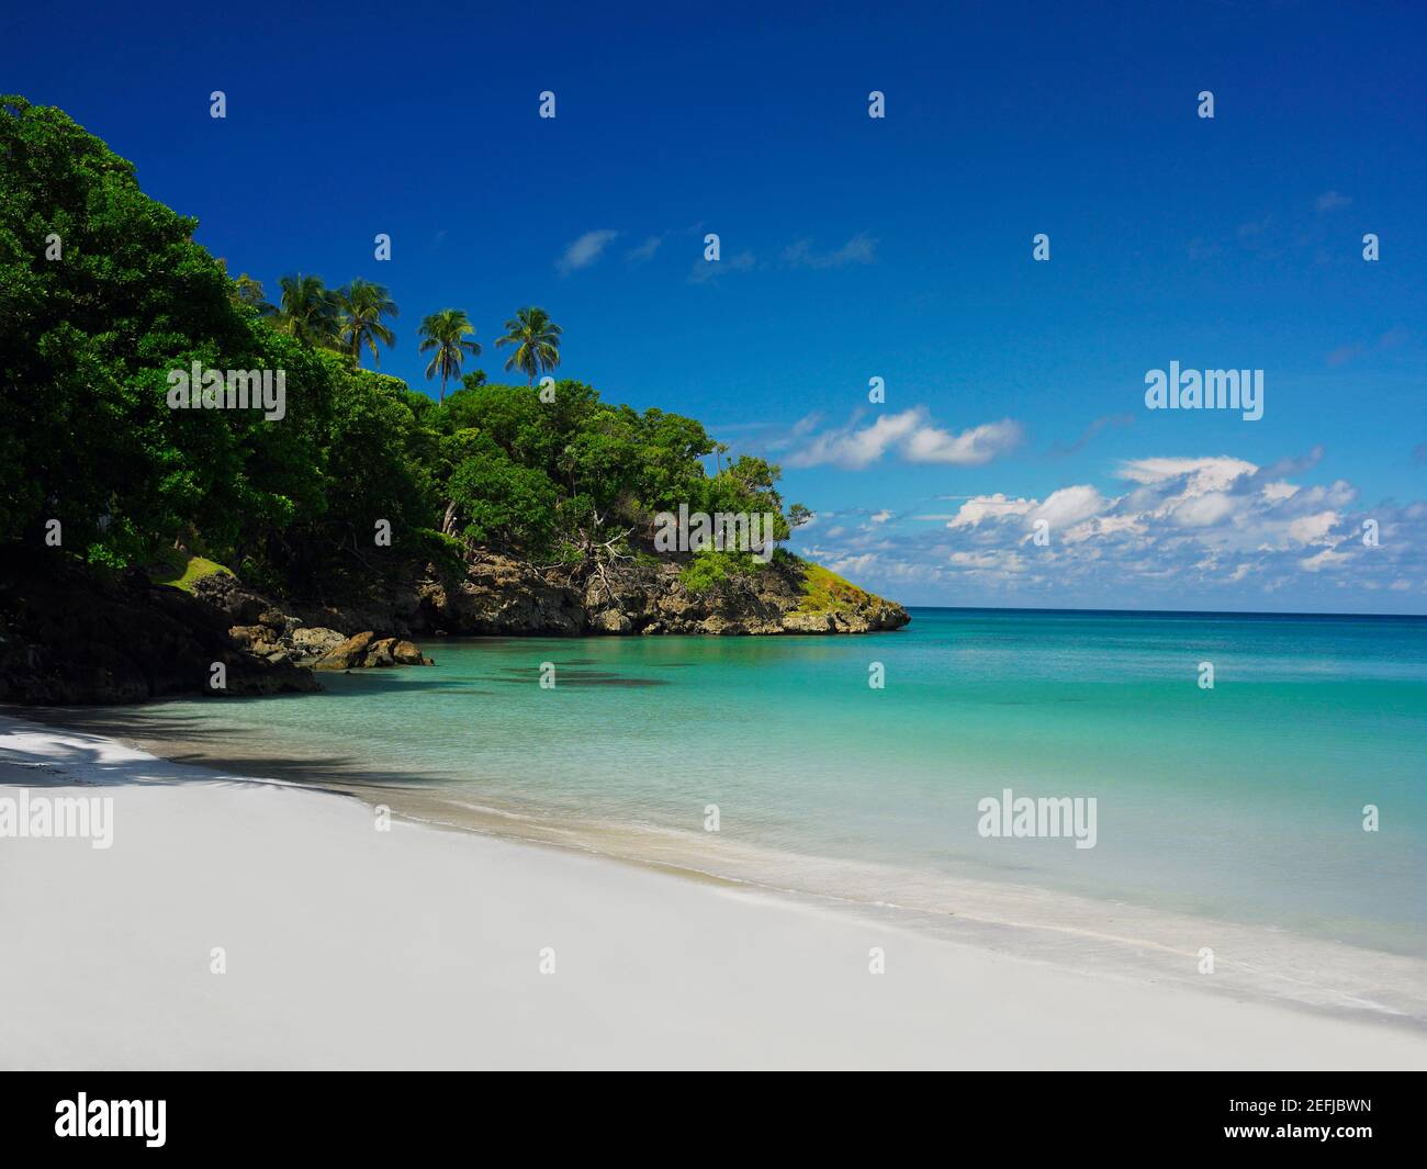
[{"label": "dense green trees and palms covering the rocky headland", "polygon": [[[778,468],[715,474],[704,427],[612,405],[578,381],[534,385],[559,327],[522,308],[497,344],[527,385],[467,374],[435,403],[358,368],[391,344],[387,290],[283,278],[280,304],[231,280],[195,223],[144,196],[133,166],[66,114],[0,98],[0,535],[90,561],[210,557],[245,578],[331,591],[392,554],[488,545],[578,571],[649,547],[654,515],[775,512]],[[428,327],[430,325],[430,327]],[[471,325],[422,324],[431,375],[459,375]],[[168,374],[284,370],[285,415],[173,410]],[[795,507],[793,522],[805,514]],[[391,525],[390,550],[378,545]],[[723,570],[699,570],[718,572]],[[702,580],[702,578],[701,578]]]}]

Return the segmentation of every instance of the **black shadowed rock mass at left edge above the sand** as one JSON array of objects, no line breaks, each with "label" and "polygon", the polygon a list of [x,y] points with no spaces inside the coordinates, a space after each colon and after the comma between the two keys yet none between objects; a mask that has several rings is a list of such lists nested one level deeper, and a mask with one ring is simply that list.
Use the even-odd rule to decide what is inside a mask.
[{"label": "black shadowed rock mass at left edge above the sand", "polygon": [[0,565],[0,701],[68,705],[315,689],[308,671],[250,654],[228,635],[221,614],[143,572],[116,577],[59,552],[10,551]]}]

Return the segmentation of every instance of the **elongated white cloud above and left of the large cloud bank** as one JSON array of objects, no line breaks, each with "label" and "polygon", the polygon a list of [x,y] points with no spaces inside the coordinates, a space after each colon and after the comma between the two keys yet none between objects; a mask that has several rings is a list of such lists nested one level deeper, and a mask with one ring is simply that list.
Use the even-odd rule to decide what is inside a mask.
[{"label": "elongated white cloud above and left of the large cloud bank", "polygon": [[972,427],[960,434],[932,425],[923,407],[900,414],[882,414],[870,425],[859,418],[835,430],[815,434],[788,462],[792,467],[832,464],[858,471],[895,450],[908,462],[938,462],[979,467],[1016,447],[1022,427],[1010,418]]}]

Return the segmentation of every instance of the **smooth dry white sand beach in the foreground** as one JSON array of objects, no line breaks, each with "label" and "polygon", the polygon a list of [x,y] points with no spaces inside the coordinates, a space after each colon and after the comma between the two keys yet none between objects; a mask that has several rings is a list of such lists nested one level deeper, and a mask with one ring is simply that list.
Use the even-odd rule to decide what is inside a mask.
[{"label": "smooth dry white sand beach in the foreground", "polygon": [[1427,1068],[1427,1035],[1367,1016],[558,848],[378,832],[351,796],[0,718],[0,799],[21,791],[111,796],[113,842],[0,839],[6,1069]]}]

